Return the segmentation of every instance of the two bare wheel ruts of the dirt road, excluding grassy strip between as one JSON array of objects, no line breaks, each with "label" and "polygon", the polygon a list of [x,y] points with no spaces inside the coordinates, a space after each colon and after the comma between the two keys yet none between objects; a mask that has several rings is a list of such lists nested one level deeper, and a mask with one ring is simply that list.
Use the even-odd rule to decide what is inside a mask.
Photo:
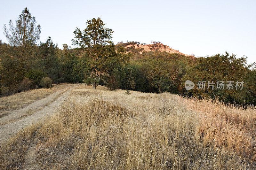
[{"label": "two bare wheel ruts of the dirt road, excluding grassy strip between", "polygon": [[[47,104],[49,101],[51,101],[51,97],[56,97],[59,94],[60,97],[58,97],[56,100],[54,100],[51,104],[45,106],[43,109],[35,112],[34,114],[24,117],[23,119],[17,120],[15,122],[12,123],[8,123],[5,124],[3,126],[0,126],[0,144],[4,143],[8,138],[12,137],[13,135],[15,135],[20,129],[22,129],[23,127],[30,125],[32,123],[35,123],[37,121],[43,121],[44,118],[47,115],[51,115],[54,111],[57,110],[57,108],[60,106],[60,104],[69,96],[69,94],[72,92],[72,90],[77,87],[77,86],[72,86],[71,88],[69,88],[66,92],[61,94],[61,91],[53,93],[52,95],[49,95],[47,97],[45,97],[44,99],[38,100],[22,109],[19,109],[21,111],[18,112],[14,111],[13,113],[16,113],[15,115],[12,115],[13,113],[10,114],[10,116],[8,115],[1,118],[1,119],[15,119],[15,118],[19,118],[22,114],[24,114],[24,111],[27,111],[28,108],[39,108],[39,107],[43,107],[45,104]],[[65,88],[66,89],[66,88]],[[41,102],[39,102],[41,101]],[[5,121],[6,121],[5,120]]]}]

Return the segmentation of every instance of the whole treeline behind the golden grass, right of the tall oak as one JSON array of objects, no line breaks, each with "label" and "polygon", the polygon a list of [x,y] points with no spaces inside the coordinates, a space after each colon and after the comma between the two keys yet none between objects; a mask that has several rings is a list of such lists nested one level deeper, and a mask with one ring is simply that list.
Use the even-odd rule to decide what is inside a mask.
[{"label": "whole treeline behind the golden grass, right of the tall oak", "polygon": [[[133,54],[133,58],[136,59],[124,68],[122,89],[167,91],[186,97],[216,98],[225,103],[256,104],[256,64],[247,64],[247,58],[236,58],[227,52],[194,58],[153,51]],[[187,80],[195,83],[193,89],[185,89]],[[204,82],[205,88],[198,88],[199,81]],[[217,89],[218,81],[224,82],[223,88]],[[243,86],[236,88],[236,81],[239,86],[244,82]],[[208,82],[214,87],[208,88]]]}]

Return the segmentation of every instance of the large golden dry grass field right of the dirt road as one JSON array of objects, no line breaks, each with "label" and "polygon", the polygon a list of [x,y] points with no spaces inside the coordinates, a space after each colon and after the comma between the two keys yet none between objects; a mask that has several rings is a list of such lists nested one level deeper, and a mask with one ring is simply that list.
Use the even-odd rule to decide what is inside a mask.
[{"label": "large golden dry grass field right of the dirt road", "polygon": [[0,151],[0,169],[24,165],[36,139],[42,169],[255,169],[256,108],[81,85],[43,123]]}]

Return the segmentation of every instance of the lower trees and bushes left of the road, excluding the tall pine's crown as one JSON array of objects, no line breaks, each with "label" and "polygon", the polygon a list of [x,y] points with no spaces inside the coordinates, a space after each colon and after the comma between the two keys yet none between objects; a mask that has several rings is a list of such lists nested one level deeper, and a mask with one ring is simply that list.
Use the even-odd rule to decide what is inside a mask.
[{"label": "lower trees and bushes left of the road, excluding the tall pine's crown", "polygon": [[33,45],[26,58],[15,57],[19,51],[7,43],[0,42],[0,51],[1,96],[46,87],[41,82],[45,77],[51,79],[50,83],[77,83],[84,79],[84,76],[73,73],[73,67],[78,61],[76,53],[67,44],[63,44],[62,50],[59,49],[51,37]]}]

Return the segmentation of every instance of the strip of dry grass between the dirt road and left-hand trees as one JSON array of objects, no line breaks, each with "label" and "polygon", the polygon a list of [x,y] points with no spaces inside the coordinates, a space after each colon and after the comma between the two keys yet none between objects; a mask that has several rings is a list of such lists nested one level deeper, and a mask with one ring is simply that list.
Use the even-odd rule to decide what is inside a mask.
[{"label": "strip of dry grass between the dirt road and left-hand trees", "polygon": [[70,84],[54,85],[52,89],[33,89],[25,92],[16,93],[11,96],[0,98],[0,117],[6,114],[6,111],[19,109],[33,103],[36,100],[42,99],[49,94],[52,94],[60,89],[64,89]]}]

